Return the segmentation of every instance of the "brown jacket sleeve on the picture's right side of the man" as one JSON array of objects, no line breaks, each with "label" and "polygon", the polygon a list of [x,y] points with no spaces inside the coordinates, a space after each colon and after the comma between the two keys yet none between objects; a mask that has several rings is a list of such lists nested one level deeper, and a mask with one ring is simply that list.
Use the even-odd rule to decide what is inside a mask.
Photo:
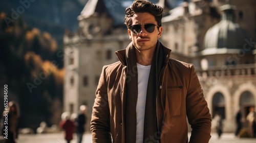
[{"label": "brown jacket sleeve on the picture's right side of the man", "polygon": [[190,81],[187,89],[186,112],[192,131],[189,142],[209,142],[211,115],[204,99],[194,65],[190,65]]}]

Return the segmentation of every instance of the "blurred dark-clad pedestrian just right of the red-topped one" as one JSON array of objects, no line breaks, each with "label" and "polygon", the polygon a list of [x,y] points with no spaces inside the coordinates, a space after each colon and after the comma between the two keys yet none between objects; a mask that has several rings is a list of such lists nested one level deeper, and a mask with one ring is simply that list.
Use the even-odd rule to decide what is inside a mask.
[{"label": "blurred dark-clad pedestrian just right of the red-topped one", "polygon": [[80,112],[77,116],[77,141],[78,143],[82,142],[83,133],[86,131],[86,122],[87,122],[87,106],[81,105]]}]

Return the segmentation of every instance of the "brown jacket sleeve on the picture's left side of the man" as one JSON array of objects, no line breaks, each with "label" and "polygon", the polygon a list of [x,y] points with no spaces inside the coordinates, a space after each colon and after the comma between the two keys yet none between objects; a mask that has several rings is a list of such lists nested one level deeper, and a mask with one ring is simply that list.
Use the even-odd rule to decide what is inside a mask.
[{"label": "brown jacket sleeve on the picture's left side of the man", "polygon": [[105,70],[99,79],[96,89],[96,98],[92,111],[91,131],[93,142],[112,142],[110,133],[110,110],[108,102],[107,84],[105,81]]}]

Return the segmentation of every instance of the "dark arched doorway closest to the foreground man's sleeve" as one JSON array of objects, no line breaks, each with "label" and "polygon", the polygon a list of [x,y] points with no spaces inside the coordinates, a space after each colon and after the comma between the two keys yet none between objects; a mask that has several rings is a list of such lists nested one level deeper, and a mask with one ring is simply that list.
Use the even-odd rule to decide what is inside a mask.
[{"label": "dark arched doorway closest to the foreground man's sleeve", "polygon": [[222,118],[226,118],[225,114],[225,98],[221,92],[217,92],[214,94],[212,98],[212,114],[215,115],[219,112]]}]

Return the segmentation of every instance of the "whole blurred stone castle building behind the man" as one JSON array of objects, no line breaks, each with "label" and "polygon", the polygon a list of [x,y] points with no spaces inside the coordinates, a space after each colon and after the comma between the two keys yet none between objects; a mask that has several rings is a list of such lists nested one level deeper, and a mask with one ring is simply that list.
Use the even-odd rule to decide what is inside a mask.
[{"label": "whole blurred stone castle building behind the man", "polygon": [[[224,119],[224,132],[235,130],[239,108],[246,126],[248,109],[256,105],[256,1],[191,0],[175,8],[168,2],[158,3],[165,11],[159,40],[172,50],[171,58],[195,65],[212,116],[218,111]],[[102,66],[116,62],[115,51],[131,42],[120,15],[124,6],[88,1],[78,16],[80,28],[64,35],[65,111],[87,105],[90,120]]]}]

